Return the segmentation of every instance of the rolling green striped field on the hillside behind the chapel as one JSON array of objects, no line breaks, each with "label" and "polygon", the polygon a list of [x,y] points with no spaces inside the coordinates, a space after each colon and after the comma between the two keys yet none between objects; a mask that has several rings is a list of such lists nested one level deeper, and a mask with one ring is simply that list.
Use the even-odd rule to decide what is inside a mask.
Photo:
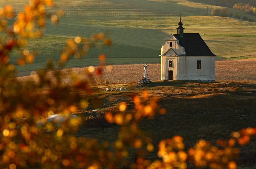
[{"label": "rolling green striped field on the hillside behind the chapel", "polygon": [[[0,6],[12,4],[18,12],[27,2],[1,1]],[[217,55],[216,59],[255,54],[256,23],[209,16],[209,10],[217,6],[188,0],[56,0],[55,3],[56,6],[47,12],[55,13],[62,9],[65,16],[57,26],[48,19],[44,37],[28,42],[28,49],[37,51],[38,55],[34,65],[21,67],[20,71],[42,68],[47,58],[58,60],[67,38],[98,32],[107,32],[113,45],[91,50],[87,57],[80,61],[71,60],[67,67],[97,65],[100,53],[107,54],[108,64],[159,63],[164,39],[177,32],[180,12],[185,33],[200,31],[211,51]],[[243,11],[229,10],[256,20],[255,16]],[[14,52],[11,62],[15,63],[17,57],[18,53]]]}]

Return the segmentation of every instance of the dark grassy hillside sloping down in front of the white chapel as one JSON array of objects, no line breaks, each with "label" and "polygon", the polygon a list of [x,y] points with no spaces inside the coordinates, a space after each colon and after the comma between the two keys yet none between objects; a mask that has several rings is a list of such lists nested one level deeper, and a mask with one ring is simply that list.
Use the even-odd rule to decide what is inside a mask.
[{"label": "dark grassy hillside sloping down in front of the white chapel", "polygon": [[[128,90],[105,91],[106,87],[126,87]],[[229,91],[231,87],[238,87],[240,91],[231,92]],[[97,89],[95,96],[102,99],[105,109],[83,113],[87,118],[91,117],[86,126],[92,129],[81,129],[77,135],[97,138],[100,142],[103,140],[112,142],[119,130],[117,126],[108,128],[102,123],[100,116],[107,111],[106,107],[113,107],[125,101],[128,108],[133,110],[131,96],[134,94],[142,96],[141,91],[145,90],[149,93],[149,98],[159,97],[159,104],[166,108],[167,113],[156,115],[152,120],[145,119],[140,123],[140,127],[152,137],[155,146],[154,152],[148,154],[149,159],[157,158],[160,140],[172,138],[174,135],[184,138],[187,150],[193,147],[197,140],[205,139],[215,144],[217,139],[231,138],[232,131],[255,127],[255,83],[156,81],[145,85],[112,84],[95,88]],[[255,143],[254,137],[244,147],[236,145],[241,149],[240,157],[236,160],[238,168],[255,168]],[[131,150],[130,153],[132,154],[133,151]]]}]

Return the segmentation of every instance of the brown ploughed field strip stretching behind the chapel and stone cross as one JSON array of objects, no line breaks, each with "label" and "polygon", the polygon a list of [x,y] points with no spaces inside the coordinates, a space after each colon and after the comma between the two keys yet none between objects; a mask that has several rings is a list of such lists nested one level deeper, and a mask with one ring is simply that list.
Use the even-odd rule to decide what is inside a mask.
[{"label": "brown ploughed field strip stretching behind the chapel and stone cross", "polygon": [[[86,69],[73,68],[72,70],[81,77],[81,75],[84,76]],[[148,76],[151,81],[160,80],[160,64],[149,64]],[[215,62],[215,76],[216,81],[256,81],[256,58],[217,60]],[[102,78],[103,80],[108,79],[110,83],[135,83],[144,77],[144,66],[143,64],[113,65],[111,70],[107,70],[106,67],[103,68],[101,77],[95,77],[96,82],[99,82],[99,79]],[[29,76],[19,77],[22,80],[27,78]],[[70,80],[65,79],[64,81],[68,83]]]}]

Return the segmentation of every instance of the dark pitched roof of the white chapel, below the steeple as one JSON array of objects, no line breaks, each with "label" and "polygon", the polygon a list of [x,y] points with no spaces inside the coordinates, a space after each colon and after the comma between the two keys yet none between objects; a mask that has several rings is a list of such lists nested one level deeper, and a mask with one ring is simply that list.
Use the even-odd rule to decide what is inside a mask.
[{"label": "dark pitched roof of the white chapel, below the steeple", "polygon": [[175,34],[179,44],[185,48],[186,56],[216,56],[211,52],[199,33],[184,33],[184,37]]}]

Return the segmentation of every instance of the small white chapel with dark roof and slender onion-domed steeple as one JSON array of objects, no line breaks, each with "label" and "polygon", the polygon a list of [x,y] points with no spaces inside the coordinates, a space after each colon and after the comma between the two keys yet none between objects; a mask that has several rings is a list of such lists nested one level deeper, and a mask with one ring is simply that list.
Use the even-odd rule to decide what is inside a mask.
[{"label": "small white chapel with dark roof and slender onion-domed steeple", "polygon": [[177,34],[161,47],[161,80],[215,81],[215,54],[199,33],[184,33],[181,17]]}]

